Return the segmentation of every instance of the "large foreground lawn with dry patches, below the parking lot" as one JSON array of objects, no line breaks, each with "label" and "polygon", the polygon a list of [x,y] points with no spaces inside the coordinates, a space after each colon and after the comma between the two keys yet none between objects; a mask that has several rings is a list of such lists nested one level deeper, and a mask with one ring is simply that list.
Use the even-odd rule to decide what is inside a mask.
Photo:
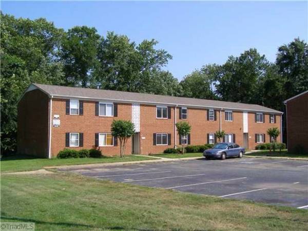
[{"label": "large foreground lawn with dry patches, below the parking lot", "polygon": [[307,230],[308,211],[75,174],[2,175],[1,222],[36,230]]}]

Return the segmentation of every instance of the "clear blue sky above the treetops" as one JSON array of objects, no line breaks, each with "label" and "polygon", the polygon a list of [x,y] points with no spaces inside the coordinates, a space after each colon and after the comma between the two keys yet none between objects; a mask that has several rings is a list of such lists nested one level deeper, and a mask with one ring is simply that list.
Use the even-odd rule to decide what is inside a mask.
[{"label": "clear blue sky above the treetops", "polygon": [[278,46],[308,37],[308,2],[2,2],[1,8],[66,30],[86,25],[137,43],[155,38],[173,56],[164,69],[179,80],[249,48],[274,62]]}]

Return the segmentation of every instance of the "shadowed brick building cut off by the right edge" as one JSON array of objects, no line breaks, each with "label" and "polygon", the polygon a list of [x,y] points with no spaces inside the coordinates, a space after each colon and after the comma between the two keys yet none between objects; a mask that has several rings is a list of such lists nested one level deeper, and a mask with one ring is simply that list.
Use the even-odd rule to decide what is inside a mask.
[{"label": "shadowed brick building cut off by the right edge", "polygon": [[302,146],[308,152],[308,91],[284,101],[288,151]]}]

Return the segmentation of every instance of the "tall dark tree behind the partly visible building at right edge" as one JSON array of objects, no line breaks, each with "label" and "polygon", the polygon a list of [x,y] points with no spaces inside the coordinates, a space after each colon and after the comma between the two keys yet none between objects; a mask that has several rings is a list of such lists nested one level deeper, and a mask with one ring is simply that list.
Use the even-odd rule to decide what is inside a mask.
[{"label": "tall dark tree behind the partly visible building at right edge", "polygon": [[308,90],[308,44],[295,38],[278,48],[276,64],[285,79],[284,98],[291,98]]}]

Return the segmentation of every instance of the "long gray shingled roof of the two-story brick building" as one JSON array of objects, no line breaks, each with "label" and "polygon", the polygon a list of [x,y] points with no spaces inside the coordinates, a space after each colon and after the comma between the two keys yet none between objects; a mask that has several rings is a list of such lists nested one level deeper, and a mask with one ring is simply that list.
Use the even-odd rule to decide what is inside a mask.
[{"label": "long gray shingled roof of the two-story brick building", "polygon": [[208,107],[208,108],[223,108],[223,109],[238,109],[248,111],[262,111],[282,113],[268,107],[263,107],[256,104],[243,104],[234,102],[225,102],[217,100],[202,100],[185,97],[171,97],[166,95],[134,93],[126,91],[113,90],[99,90],[81,87],[64,87],[45,84],[33,84],[37,88],[43,90],[53,97],[64,98],[84,98],[95,100],[114,100],[122,102],[136,102],[136,103],[151,103],[151,104],[169,104],[190,107]]}]

